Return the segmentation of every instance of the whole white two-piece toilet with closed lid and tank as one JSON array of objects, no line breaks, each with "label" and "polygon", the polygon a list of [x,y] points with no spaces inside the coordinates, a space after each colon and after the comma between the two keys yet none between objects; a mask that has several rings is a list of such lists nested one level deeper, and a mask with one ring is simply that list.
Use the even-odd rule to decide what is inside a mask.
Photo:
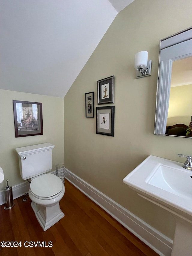
[{"label": "whole white two-piece toilet with closed lid and tank", "polygon": [[52,149],[50,143],[16,148],[19,157],[19,170],[22,179],[30,182],[29,197],[35,216],[47,230],[64,217],[59,201],[65,187],[61,179],[52,173]]}]

